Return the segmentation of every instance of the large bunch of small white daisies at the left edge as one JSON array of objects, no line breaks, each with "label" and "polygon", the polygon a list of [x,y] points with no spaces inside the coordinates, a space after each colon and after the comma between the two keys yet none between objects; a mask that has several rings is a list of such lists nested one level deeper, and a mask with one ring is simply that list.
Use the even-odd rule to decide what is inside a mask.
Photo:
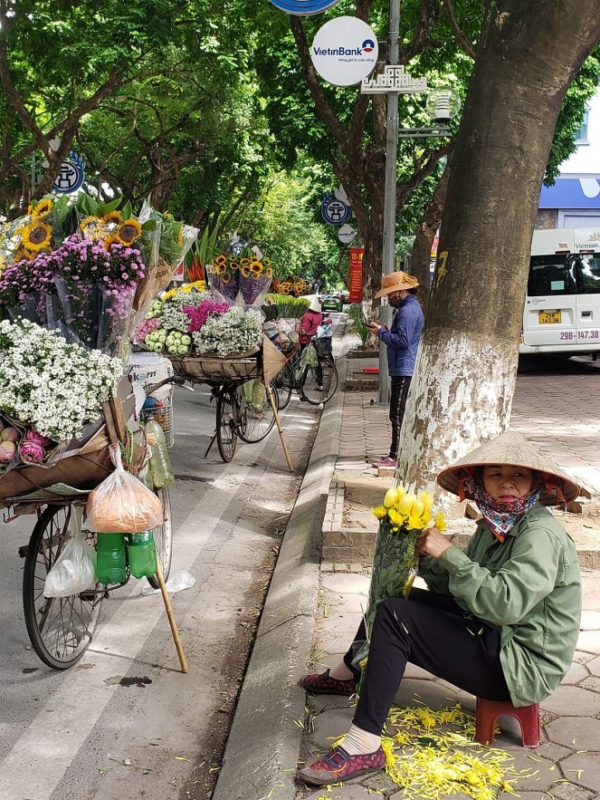
[{"label": "large bunch of small white daisies at the left edge", "polygon": [[77,437],[100,418],[122,373],[119,359],[68,344],[27,320],[0,323],[0,410],[41,437]]}]

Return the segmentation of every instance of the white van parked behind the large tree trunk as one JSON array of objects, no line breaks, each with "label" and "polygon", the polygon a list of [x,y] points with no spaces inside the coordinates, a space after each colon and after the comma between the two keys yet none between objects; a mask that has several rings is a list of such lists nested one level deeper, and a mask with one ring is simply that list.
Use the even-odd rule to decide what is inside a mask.
[{"label": "white van parked behind the large tree trunk", "polygon": [[520,353],[600,351],[600,230],[534,231]]}]

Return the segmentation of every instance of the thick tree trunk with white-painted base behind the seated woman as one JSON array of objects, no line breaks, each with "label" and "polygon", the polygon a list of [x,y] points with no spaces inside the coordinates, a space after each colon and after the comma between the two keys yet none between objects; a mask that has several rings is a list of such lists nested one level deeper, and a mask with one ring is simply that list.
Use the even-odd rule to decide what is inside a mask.
[{"label": "thick tree trunk with white-painted base behind the seated woman", "polygon": [[599,38],[599,0],[485,4],[402,430],[397,474],[417,487],[507,428],[544,168]]}]

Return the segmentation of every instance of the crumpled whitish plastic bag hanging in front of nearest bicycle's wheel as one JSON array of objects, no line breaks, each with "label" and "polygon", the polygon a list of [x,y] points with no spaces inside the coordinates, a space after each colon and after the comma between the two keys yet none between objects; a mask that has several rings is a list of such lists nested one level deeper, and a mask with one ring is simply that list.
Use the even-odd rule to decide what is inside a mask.
[{"label": "crumpled whitish plastic bag hanging in front of nearest bicycle's wheel", "polygon": [[46,575],[43,586],[44,597],[70,597],[85,592],[96,583],[96,551],[81,530],[79,516],[73,516],[77,530]]}]

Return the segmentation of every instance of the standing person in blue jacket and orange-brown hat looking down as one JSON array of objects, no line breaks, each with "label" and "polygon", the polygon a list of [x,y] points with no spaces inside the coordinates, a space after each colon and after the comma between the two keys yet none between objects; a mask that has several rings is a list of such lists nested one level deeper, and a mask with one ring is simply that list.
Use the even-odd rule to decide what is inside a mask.
[{"label": "standing person in blue jacket and orange-brown hat looking down", "polygon": [[370,323],[369,330],[387,346],[387,371],[392,379],[389,419],[392,423],[392,444],[389,454],[375,462],[376,467],[395,467],[398,458],[398,439],[405,416],[406,398],[413,377],[416,352],[423,331],[423,311],[416,294],[418,281],[405,272],[384,275],[376,297],[387,295],[387,302],[395,308],[392,327]]}]

